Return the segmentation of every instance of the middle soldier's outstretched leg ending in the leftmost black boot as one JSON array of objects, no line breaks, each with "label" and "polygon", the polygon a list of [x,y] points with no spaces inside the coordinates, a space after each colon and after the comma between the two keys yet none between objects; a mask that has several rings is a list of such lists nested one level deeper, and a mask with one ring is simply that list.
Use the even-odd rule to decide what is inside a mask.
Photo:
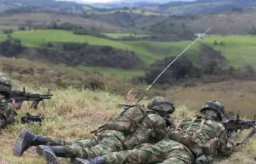
[{"label": "middle soldier's outstretched leg ending in the leftmost black boot", "polygon": [[34,135],[29,130],[21,130],[18,140],[13,148],[13,153],[17,156],[21,156],[26,149],[30,146],[48,145],[48,146],[64,146],[64,145],[85,145],[85,146],[95,146],[97,144],[97,139],[88,138],[84,140],[77,141],[65,141],[60,138],[52,138],[42,135]]}]

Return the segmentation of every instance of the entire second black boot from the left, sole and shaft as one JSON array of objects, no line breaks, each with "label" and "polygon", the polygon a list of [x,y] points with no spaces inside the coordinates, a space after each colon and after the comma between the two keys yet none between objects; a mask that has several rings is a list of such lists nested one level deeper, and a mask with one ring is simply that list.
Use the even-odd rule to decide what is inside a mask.
[{"label": "entire second black boot from the left, sole and shaft", "polygon": [[37,154],[43,156],[47,164],[59,164],[58,157],[65,157],[64,146],[44,146],[36,148]]}]

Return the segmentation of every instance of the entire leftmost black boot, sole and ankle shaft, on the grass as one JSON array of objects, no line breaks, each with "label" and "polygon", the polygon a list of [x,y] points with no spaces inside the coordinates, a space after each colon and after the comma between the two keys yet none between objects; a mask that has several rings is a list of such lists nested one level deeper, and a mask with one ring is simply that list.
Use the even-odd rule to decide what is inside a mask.
[{"label": "entire leftmost black boot, sole and ankle shaft, on the grass", "polygon": [[26,149],[29,149],[30,146],[38,146],[46,143],[47,141],[43,136],[34,135],[29,130],[21,130],[18,140],[14,145],[13,154],[16,156],[21,156]]}]

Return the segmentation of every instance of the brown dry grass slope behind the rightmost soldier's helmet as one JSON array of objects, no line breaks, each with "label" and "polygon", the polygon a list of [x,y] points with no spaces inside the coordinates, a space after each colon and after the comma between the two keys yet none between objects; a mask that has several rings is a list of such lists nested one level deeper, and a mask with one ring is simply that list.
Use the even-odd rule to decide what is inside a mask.
[{"label": "brown dry grass slope behind the rightmost soldier's helmet", "polygon": [[222,102],[226,111],[240,112],[241,116],[253,119],[256,100],[256,81],[224,81],[196,87],[176,87],[164,92],[178,105],[199,110],[207,100]]}]

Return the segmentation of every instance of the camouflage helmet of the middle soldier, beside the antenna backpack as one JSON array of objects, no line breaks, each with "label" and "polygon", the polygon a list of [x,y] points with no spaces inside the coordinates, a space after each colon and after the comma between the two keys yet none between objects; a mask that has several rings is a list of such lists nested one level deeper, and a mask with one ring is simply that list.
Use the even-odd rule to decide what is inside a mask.
[{"label": "camouflage helmet of the middle soldier, beside the antenna backpack", "polygon": [[175,111],[175,106],[166,97],[153,97],[150,103],[148,103],[147,108],[167,113],[173,113]]}]

